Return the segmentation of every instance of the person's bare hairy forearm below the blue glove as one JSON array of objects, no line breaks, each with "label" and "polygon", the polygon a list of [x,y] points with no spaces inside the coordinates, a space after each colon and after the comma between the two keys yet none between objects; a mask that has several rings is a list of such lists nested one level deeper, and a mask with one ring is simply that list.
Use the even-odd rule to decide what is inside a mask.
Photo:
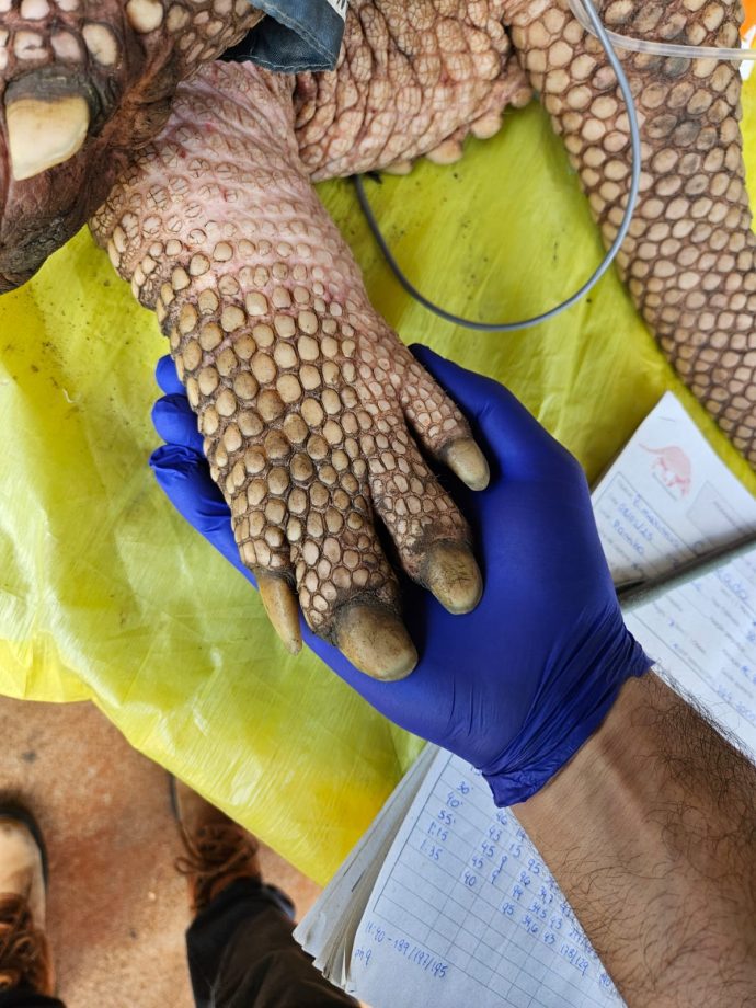
[{"label": "person's bare hairy forearm below the blue glove", "polygon": [[756,1004],[756,767],[658,678],[515,811],[630,1006]]}]

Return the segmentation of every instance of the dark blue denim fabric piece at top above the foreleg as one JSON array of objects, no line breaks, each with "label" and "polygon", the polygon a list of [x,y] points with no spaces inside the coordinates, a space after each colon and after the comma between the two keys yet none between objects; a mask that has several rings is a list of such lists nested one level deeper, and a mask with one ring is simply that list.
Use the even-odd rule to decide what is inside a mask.
[{"label": "dark blue denim fabric piece at top above the foreleg", "polygon": [[[333,2],[346,13],[345,0]],[[221,59],[249,59],[288,73],[335,67],[344,19],[329,0],[254,0],[253,7],[266,16]]]}]

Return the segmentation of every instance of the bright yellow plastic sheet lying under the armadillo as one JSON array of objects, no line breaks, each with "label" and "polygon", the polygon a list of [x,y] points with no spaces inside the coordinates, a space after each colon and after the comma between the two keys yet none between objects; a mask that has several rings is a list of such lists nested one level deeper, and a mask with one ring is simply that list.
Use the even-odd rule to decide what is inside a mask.
[{"label": "bright yellow plastic sheet lying under the armadillo", "polygon": [[[748,123],[753,95],[751,87]],[[756,165],[754,142],[748,157]],[[408,274],[473,318],[535,314],[571,294],[602,255],[536,104],[507,116],[494,140],[471,141],[458,165],[423,162],[367,188]],[[456,330],[399,288],[348,184],[321,195],[402,337],[506,382],[592,479],[672,388],[756,488],[614,274],[538,329]],[[0,692],[92,699],[138,749],[322,882],[420,742],[309,652],[287,656],[252,588],[158,490],[147,459],[164,352],[154,318],[87,232],[0,299]]]}]

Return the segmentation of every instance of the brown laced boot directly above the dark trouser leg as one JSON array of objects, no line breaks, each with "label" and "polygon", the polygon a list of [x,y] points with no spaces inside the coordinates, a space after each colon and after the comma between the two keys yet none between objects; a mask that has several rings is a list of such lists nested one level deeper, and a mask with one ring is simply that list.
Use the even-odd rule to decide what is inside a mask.
[{"label": "brown laced boot directly above the dark trouser leg", "polygon": [[237,879],[260,879],[257,840],[183,781],[172,778],[173,810],[186,855],[176,870],[186,875],[192,913],[198,914]]}]

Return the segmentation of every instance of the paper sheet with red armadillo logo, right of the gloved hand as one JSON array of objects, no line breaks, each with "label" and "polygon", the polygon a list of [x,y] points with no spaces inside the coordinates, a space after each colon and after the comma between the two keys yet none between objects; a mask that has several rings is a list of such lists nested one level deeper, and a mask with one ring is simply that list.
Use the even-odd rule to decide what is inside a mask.
[{"label": "paper sheet with red armadillo logo, right of the gloved hand", "polygon": [[[615,583],[655,577],[756,529],[756,500],[672,393],[593,494]],[[627,617],[660,669],[756,752],[756,549]]]}]

